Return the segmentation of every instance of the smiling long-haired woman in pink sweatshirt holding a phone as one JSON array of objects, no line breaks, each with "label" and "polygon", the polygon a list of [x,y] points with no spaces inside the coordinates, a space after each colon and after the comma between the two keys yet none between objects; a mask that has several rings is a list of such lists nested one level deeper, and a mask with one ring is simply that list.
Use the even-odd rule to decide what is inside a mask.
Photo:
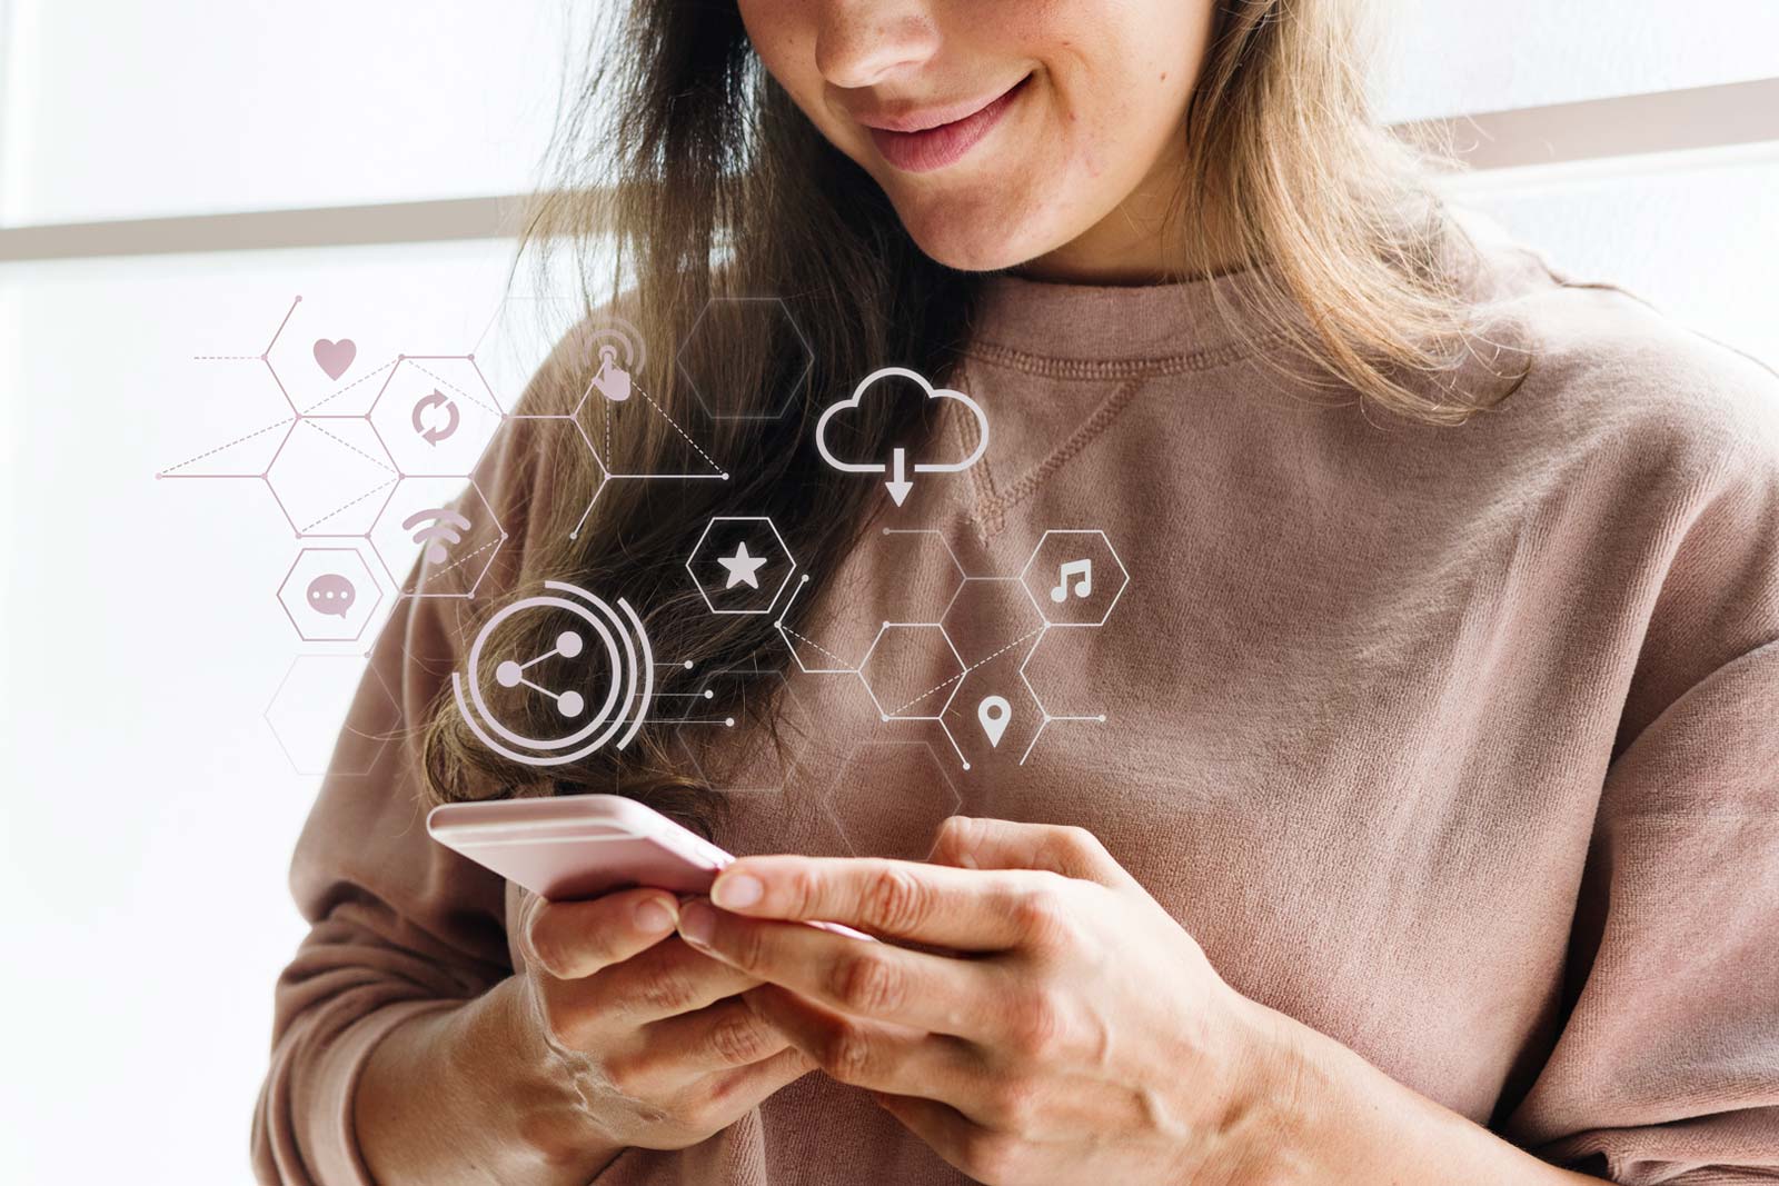
[{"label": "smiling long-haired woman in pink sweatshirt holding a phone", "polygon": [[[639,4],[562,142],[624,185],[534,235],[616,228],[653,409],[571,336],[479,471],[470,617],[382,633],[263,1181],[1779,1174],[1779,388],[1461,229],[1345,7]],[[811,439],[886,365],[993,425],[906,503]],[[884,400],[841,445],[982,432]],[[772,519],[790,608],[710,612],[720,516]],[[1105,624],[1034,624],[1082,560]],[[546,578],[685,663],[539,772],[439,692]],[[1018,736],[970,733],[991,695]],[[418,825],[582,789],[797,855],[543,905]]]}]

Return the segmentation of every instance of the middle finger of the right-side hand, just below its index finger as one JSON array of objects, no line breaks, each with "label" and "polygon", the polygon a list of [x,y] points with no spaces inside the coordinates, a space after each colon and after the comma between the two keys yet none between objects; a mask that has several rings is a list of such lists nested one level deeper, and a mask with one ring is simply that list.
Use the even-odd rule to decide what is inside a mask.
[{"label": "middle finger of the right-side hand, just below its index finger", "polygon": [[719,960],[856,1017],[934,1033],[986,1037],[1007,973],[987,960],[909,951],[777,919],[751,919],[690,900],[680,934]]}]

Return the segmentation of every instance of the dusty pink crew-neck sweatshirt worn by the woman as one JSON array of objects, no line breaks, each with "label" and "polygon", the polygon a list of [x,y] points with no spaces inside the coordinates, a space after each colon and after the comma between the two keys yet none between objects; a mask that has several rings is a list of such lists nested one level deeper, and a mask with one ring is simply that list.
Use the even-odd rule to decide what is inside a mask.
[{"label": "dusty pink crew-neck sweatshirt worn by the woman", "polygon": [[[1530,377],[1466,427],[1416,425],[1244,345],[1215,308],[1240,317],[1251,281],[987,281],[952,382],[991,421],[984,459],[920,475],[882,519],[906,533],[801,594],[802,667],[865,676],[760,658],[790,672],[788,761],[687,729],[733,791],[717,843],[922,857],[954,811],[1076,823],[1235,989],[1541,1158],[1772,1181],[1779,379],[1494,244],[1475,292]],[[479,597],[516,571],[535,446],[512,432],[484,464],[512,539]],[[1076,560],[1092,594],[1053,599]],[[427,839],[400,733],[464,653],[459,610],[395,612],[297,845],[313,930],[278,987],[263,1182],[368,1182],[372,1046],[512,974],[516,894]],[[809,1074],[596,1181],[866,1179],[962,1181]]]}]

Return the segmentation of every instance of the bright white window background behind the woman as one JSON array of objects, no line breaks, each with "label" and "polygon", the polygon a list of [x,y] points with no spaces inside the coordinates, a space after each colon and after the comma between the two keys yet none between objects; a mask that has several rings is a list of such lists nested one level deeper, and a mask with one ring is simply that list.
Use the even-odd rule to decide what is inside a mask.
[{"label": "bright white window background behind the woman", "polygon": [[[238,437],[288,414],[253,356],[295,295],[361,368],[477,349],[607,2],[0,0],[0,1181],[247,1181],[286,862],[395,589],[304,642],[265,484],[155,475],[276,443]],[[1779,357],[1779,5],[1388,28],[1381,110],[1459,121],[1461,201]]]}]

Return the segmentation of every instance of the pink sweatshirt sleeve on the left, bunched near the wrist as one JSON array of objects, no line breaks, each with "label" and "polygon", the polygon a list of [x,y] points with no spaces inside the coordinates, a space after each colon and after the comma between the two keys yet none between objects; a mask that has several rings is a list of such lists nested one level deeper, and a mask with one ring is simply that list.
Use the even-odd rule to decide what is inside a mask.
[{"label": "pink sweatshirt sleeve on the left, bunched near the wrist", "polygon": [[[560,389],[546,382],[550,370],[527,389],[528,413]],[[270,1070],[253,1120],[260,1182],[372,1186],[352,1131],[372,1047],[404,1021],[512,974],[505,882],[427,836],[422,727],[450,695],[471,615],[518,580],[530,494],[546,480],[548,434],[559,427],[514,418],[496,434],[457,500],[475,526],[454,546],[493,558],[475,578],[468,567],[427,578],[443,592],[473,581],[475,599],[400,597],[347,713],[290,868],[310,934],[274,994]],[[404,589],[420,571],[416,562]]]}]

